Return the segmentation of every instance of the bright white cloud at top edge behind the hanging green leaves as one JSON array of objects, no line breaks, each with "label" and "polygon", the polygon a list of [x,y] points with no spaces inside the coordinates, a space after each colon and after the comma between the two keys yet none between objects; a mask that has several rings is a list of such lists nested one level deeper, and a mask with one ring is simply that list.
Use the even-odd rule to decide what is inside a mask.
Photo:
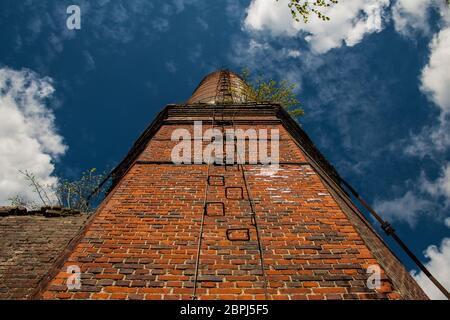
[{"label": "bright white cloud at top edge behind the hanging green leaves", "polygon": [[305,39],[317,53],[338,48],[345,43],[353,46],[366,34],[383,29],[383,16],[389,0],[347,0],[326,8],[331,20],[324,22],[312,16],[305,24],[292,19],[288,0],[252,0],[247,10],[245,27],[253,31],[269,31],[274,35],[298,36]]}]

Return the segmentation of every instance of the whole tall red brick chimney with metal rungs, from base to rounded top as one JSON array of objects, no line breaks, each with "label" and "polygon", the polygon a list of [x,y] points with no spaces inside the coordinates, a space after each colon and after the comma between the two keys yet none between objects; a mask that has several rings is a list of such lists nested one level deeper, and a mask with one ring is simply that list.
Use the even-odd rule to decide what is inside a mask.
[{"label": "whole tall red brick chimney with metal rungs, from base to rounded top", "polygon": [[[426,299],[302,128],[249,92],[238,75],[220,70],[186,104],[165,107],[116,167],[109,195],[39,296]],[[202,151],[230,130],[266,130],[257,146],[273,152],[276,142],[279,161],[250,161],[248,134],[232,139],[244,146],[237,157],[223,147],[212,161],[194,161],[193,152],[192,161],[174,163],[177,129]],[[211,129],[221,136],[208,136]],[[71,266],[81,271],[74,290],[66,286]]]}]

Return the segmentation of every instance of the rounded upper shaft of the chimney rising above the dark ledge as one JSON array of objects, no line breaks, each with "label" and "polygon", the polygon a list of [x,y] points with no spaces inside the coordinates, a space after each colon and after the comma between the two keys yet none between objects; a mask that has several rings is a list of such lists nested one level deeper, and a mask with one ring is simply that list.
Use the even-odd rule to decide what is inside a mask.
[{"label": "rounded upper shaft of the chimney rising above the dark ledge", "polygon": [[245,103],[252,101],[249,85],[230,70],[208,74],[200,82],[187,104]]}]

